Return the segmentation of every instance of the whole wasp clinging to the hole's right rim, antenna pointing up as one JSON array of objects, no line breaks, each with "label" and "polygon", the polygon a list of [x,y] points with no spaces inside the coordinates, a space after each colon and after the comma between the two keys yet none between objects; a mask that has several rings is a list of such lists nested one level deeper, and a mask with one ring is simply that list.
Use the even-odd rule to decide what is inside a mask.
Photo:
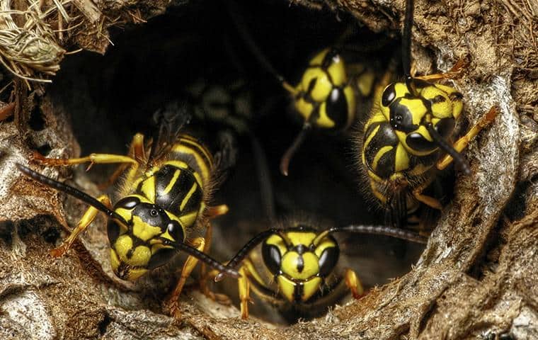
[{"label": "whole wasp clinging to the hole's right rim, antenna pointing up", "polygon": [[[387,207],[392,224],[405,225],[420,203],[440,210],[440,202],[423,191],[435,180],[437,169],[452,160],[464,174],[471,174],[460,152],[496,117],[493,107],[463,137],[452,144],[455,121],[462,113],[462,94],[432,83],[452,77],[462,65],[447,74],[411,77],[411,28],[413,1],[406,0],[402,62],[406,80],[377,91],[372,112],[358,138],[361,168],[380,203]],[[446,155],[442,156],[442,152]]]}]

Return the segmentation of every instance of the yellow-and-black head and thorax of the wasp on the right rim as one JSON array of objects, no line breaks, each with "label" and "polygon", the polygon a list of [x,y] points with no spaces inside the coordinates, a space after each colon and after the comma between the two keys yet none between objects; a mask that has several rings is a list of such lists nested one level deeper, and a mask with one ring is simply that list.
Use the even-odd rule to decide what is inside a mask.
[{"label": "yellow-and-black head and thorax of the wasp on the right rim", "polygon": [[362,163],[370,176],[390,179],[408,171],[423,174],[434,164],[438,145],[426,128],[432,123],[443,137],[452,135],[462,111],[462,95],[449,86],[413,79],[416,94],[406,83],[389,84],[365,125]]}]

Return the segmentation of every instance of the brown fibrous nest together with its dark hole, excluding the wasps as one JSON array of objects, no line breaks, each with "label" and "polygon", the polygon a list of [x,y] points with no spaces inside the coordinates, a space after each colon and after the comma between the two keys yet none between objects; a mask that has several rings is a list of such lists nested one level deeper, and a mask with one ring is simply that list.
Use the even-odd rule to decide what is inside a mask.
[{"label": "brown fibrous nest together with its dark hole, excluding the wasps", "polygon": [[[294,121],[289,96],[239,38],[224,1],[101,2],[63,1],[71,21],[63,21],[62,26],[64,15],[58,13],[57,2],[44,1],[40,6],[43,11],[49,8],[50,27],[40,24],[38,28],[50,29],[55,37],[47,41],[57,42],[49,49],[57,52],[56,59],[64,57],[60,71],[47,86],[15,80],[9,87],[16,78],[6,72],[1,79],[2,88],[7,85],[13,91],[0,92],[0,99],[14,103],[13,117],[0,123],[1,336],[538,336],[534,42],[538,22],[532,16],[538,8],[515,0],[416,1],[413,61],[418,72],[446,71],[466,58],[469,66],[454,81],[464,94],[462,129],[491,106],[498,106],[500,113],[465,152],[473,174],[466,177],[457,172],[454,178],[442,178],[454,192],[447,191],[445,208],[425,249],[387,237],[340,235],[340,261],[355,269],[367,288],[379,287],[359,301],[334,307],[324,317],[284,327],[301,315],[280,317],[256,300],[251,312],[257,318],[240,320],[236,308],[212,302],[195,284],[181,296],[182,318],[166,316],[162,302],[178,276],[176,263],[135,285],[120,282],[108,264],[103,217],[93,222],[67,256],[52,259],[48,254],[67,235],[62,225],[76,225],[86,207],[25,179],[15,162],[35,166],[31,154],[35,150],[50,157],[123,154],[135,132],[151,134],[151,116],[157,109],[184,98],[199,79],[224,87],[241,79],[248,90],[251,132],[265,152],[277,217],[308,216],[321,227],[384,222],[360,190],[365,184],[356,169],[350,135],[311,134],[292,160],[290,176],[280,175],[280,157],[300,126]],[[249,33],[292,84],[315,52],[344,35],[367,51],[363,53],[367,61],[380,62],[382,67],[399,49],[403,1],[298,2],[299,6],[286,1],[238,1]],[[25,10],[16,6],[11,10]],[[67,30],[60,33],[62,27]],[[108,45],[108,38],[114,45]],[[72,50],[73,45],[83,51],[64,55],[64,49]],[[99,55],[91,50],[106,52]],[[6,58],[5,50],[0,52]],[[39,73],[43,67],[9,63],[25,77],[48,77]],[[49,76],[57,69],[54,64],[44,67]],[[27,84],[33,84],[32,89]],[[216,128],[205,125],[205,129],[211,131],[205,136],[210,139]],[[230,208],[213,223],[211,254],[221,261],[270,226],[251,137],[238,136],[237,147],[237,164],[214,197],[214,203]],[[99,165],[87,173],[81,166],[74,171],[47,168],[41,172],[97,196],[96,184],[112,171],[112,166]],[[212,289],[237,302],[234,280],[214,284]]]}]

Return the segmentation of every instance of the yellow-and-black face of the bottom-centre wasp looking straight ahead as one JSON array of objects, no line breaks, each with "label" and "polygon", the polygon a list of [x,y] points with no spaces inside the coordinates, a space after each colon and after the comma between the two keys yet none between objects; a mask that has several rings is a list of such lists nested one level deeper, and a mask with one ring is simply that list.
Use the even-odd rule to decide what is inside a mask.
[{"label": "yellow-and-black face of the bottom-centre wasp looking straight ahead", "polygon": [[338,262],[338,244],[331,236],[314,245],[314,229],[299,227],[268,237],[262,246],[265,266],[277,280],[280,295],[290,302],[305,302],[319,292],[324,278]]}]

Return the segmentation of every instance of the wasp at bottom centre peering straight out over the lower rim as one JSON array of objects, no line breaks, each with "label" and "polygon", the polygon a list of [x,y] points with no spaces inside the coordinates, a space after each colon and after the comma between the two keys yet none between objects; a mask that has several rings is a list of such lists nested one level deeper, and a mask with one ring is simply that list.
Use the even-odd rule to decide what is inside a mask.
[{"label": "wasp at bottom centre peering straight out over the lower rim", "polygon": [[[241,317],[248,318],[250,290],[280,310],[294,309],[311,316],[337,302],[347,291],[355,299],[364,290],[355,271],[340,271],[340,250],[332,234],[338,232],[384,234],[425,243],[420,235],[385,226],[349,225],[320,231],[310,222],[287,222],[282,228],[265,230],[248,241],[229,261],[237,268]],[[261,245],[261,256],[253,249]],[[261,257],[261,259],[260,259]],[[222,280],[218,274],[215,280]]]}]

